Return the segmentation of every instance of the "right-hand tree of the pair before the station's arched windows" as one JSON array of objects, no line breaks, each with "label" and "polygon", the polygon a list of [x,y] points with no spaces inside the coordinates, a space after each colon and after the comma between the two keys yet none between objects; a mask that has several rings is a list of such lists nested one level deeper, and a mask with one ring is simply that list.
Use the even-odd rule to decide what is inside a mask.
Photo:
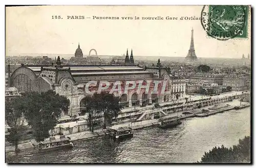
[{"label": "right-hand tree of the pair before the station's arched windows", "polygon": [[104,116],[104,127],[112,123],[112,118],[117,119],[122,106],[120,105],[120,98],[116,97],[114,94],[110,94],[108,91],[102,91],[101,93],[93,94],[94,100],[96,100],[95,110],[98,112],[103,112]]}]

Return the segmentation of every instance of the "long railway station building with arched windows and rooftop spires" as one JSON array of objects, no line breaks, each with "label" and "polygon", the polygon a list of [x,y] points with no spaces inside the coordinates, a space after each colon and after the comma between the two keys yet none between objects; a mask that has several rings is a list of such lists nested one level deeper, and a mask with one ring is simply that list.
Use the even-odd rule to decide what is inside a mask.
[{"label": "long railway station building with arched windows and rooftop spires", "polygon": [[91,81],[108,81],[111,86],[116,81],[120,81],[122,89],[125,82],[129,81],[136,81],[137,85],[151,83],[148,91],[145,88],[128,90],[126,93],[114,91],[113,93],[120,97],[120,104],[123,107],[145,106],[173,99],[168,92],[161,92],[162,85],[158,87],[157,92],[153,91],[153,82],[166,81],[165,91],[172,88],[169,86],[172,83],[170,82],[169,68],[162,67],[160,60],[156,66],[145,68],[134,65],[66,66],[61,65],[58,57],[56,65],[52,66],[20,66],[12,73],[10,86],[16,87],[18,92],[54,90],[70,100],[70,109],[64,112],[64,115],[72,116],[84,110],[83,98],[88,94],[86,85]]}]

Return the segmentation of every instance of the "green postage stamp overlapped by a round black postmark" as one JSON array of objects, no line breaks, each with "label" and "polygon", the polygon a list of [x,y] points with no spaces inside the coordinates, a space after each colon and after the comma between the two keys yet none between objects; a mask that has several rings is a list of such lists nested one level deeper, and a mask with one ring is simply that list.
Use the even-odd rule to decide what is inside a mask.
[{"label": "green postage stamp overlapped by a round black postmark", "polygon": [[218,40],[248,37],[248,9],[242,5],[208,5],[201,12],[207,36]]}]

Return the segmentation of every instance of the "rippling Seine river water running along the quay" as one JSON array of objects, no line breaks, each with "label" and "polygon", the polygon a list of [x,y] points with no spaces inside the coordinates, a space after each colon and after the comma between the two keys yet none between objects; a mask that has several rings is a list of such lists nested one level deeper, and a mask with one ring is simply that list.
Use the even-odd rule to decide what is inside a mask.
[{"label": "rippling Seine river water running along the quay", "polygon": [[250,108],[203,118],[187,118],[176,128],[145,128],[134,137],[114,141],[98,137],[75,141],[71,150],[40,154],[34,150],[7,153],[15,163],[188,163],[200,161],[215,146],[232,147],[250,135]]}]

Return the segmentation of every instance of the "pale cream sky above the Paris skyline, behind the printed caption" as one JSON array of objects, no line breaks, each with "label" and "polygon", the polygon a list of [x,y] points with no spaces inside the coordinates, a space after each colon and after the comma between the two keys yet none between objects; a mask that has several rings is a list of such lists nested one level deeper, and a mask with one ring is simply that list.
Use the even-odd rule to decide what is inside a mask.
[{"label": "pale cream sky above the Paris skyline, behind the printed caption", "polygon": [[[241,58],[250,54],[251,38],[220,41],[206,36],[200,20],[166,20],[200,17],[203,6],[30,6],[6,8],[6,55],[23,53],[74,54],[78,43],[84,55],[186,57],[191,29],[197,57]],[[52,16],[63,19],[52,19]],[[67,19],[84,16],[85,19]],[[116,16],[119,19],[93,19]],[[133,17],[122,20],[121,17]],[[134,17],[140,19],[134,19]],[[142,20],[142,17],[163,20]],[[90,17],[90,18],[87,18]],[[250,25],[250,22],[249,22]],[[250,32],[250,30],[249,30]]]}]

